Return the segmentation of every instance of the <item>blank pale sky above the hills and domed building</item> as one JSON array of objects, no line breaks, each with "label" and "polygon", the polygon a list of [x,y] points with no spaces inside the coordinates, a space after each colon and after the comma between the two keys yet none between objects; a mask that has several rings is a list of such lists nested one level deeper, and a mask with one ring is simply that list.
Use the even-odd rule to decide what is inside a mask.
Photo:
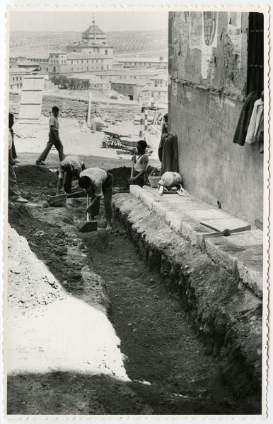
[{"label": "blank pale sky above the hills and domed building", "polygon": [[[159,30],[168,28],[168,12],[95,12],[95,23],[104,32]],[[93,13],[11,11],[11,31],[83,31],[91,25]]]}]

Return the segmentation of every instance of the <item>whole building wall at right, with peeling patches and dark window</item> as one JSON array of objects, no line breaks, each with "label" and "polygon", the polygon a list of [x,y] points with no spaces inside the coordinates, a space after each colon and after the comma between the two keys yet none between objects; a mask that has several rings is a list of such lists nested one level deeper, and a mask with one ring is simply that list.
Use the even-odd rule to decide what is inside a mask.
[{"label": "whole building wall at right, with peeling patches and dark window", "polygon": [[263,90],[263,60],[262,13],[170,12],[168,122],[184,187],[256,225],[263,155],[233,136],[246,95]]}]

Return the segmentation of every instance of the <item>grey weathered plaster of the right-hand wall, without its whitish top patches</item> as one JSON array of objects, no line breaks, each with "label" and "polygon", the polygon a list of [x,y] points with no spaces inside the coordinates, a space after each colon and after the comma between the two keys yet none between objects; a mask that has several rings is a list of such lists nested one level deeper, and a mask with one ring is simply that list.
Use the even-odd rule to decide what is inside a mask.
[{"label": "grey weathered plaster of the right-hand wall, without its whitish top patches", "polygon": [[178,134],[179,172],[185,189],[230,213],[262,223],[263,155],[260,146],[233,143],[245,98],[248,13],[242,13],[240,65],[227,35],[228,16],[218,16],[217,45],[207,79],[202,51],[190,48],[189,16],[169,18],[169,121]]}]

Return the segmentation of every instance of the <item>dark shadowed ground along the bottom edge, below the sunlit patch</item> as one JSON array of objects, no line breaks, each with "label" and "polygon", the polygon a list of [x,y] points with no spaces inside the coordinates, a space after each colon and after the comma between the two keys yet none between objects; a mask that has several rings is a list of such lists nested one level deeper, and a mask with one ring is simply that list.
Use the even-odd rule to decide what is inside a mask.
[{"label": "dark shadowed ground along the bottom edge, below the sunlit patch", "polygon": [[[145,400],[144,400],[145,399]],[[48,372],[8,376],[8,415],[217,414],[223,409],[204,399],[107,375]]]}]

